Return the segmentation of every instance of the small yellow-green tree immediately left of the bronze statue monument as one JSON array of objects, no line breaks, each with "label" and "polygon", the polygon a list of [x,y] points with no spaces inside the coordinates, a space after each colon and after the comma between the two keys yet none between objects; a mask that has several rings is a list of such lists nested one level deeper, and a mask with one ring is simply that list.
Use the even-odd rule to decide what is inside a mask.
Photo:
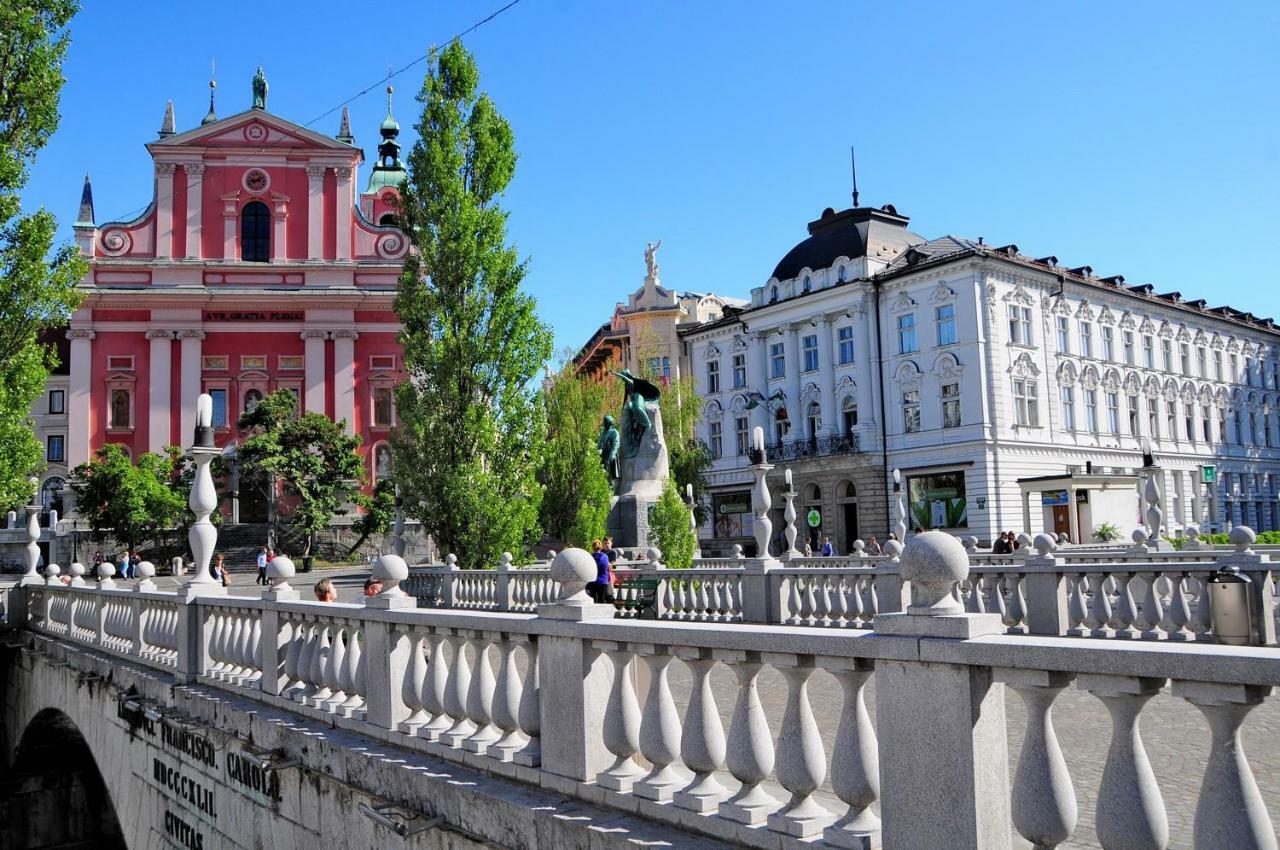
[{"label": "small yellow-green tree immediately left of the bronze statue monument", "polygon": [[598,440],[609,402],[621,405],[616,384],[577,375],[566,362],[539,397],[547,416],[547,448],[538,472],[544,489],[541,527],[570,545],[590,544],[605,533],[613,489]]}]

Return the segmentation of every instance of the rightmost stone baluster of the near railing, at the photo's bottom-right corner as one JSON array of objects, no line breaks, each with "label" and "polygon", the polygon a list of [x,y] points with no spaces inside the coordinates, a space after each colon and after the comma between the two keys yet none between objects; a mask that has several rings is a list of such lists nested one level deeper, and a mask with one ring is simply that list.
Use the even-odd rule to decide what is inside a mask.
[{"label": "rightmost stone baluster of the near railing, at the photo's bottom-right corner", "polygon": [[1172,693],[1204,714],[1212,735],[1196,804],[1196,846],[1276,850],[1275,827],[1240,741],[1245,716],[1271,689],[1175,681]]}]

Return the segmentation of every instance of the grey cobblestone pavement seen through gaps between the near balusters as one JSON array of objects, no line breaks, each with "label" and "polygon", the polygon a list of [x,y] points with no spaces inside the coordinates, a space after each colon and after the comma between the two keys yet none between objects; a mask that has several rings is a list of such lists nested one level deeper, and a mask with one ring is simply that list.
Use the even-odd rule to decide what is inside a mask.
[{"label": "grey cobblestone pavement seen through gaps between the near balusters", "polygon": [[[342,602],[357,602],[361,584],[367,571],[334,570],[298,575],[293,581],[301,593],[307,594],[311,585],[321,577],[333,580]],[[163,580],[157,580],[160,584]],[[163,586],[168,590],[169,588]],[[233,573],[232,593],[237,595],[257,595],[252,572]],[[689,702],[689,672],[682,663],[671,666],[672,691],[676,704],[684,716]],[[712,672],[716,704],[719,708],[728,735],[730,719],[733,713],[733,700],[737,695],[737,682],[731,670],[717,664]],[[644,694],[640,694],[644,699]],[[765,716],[773,727],[777,740],[778,726],[786,709],[787,687],[782,675],[772,668],[760,673],[760,699]],[[818,727],[827,748],[827,763],[831,763],[831,748],[836,737],[836,727],[844,705],[844,695],[836,680],[818,671],[810,680],[809,699],[813,704]],[[867,687],[867,707],[876,717],[876,677]],[[1010,781],[1018,769],[1018,753],[1027,728],[1027,714],[1021,700],[1012,690],[1006,689],[1005,710],[1009,721],[1009,776]],[[1102,767],[1106,762],[1107,746],[1111,742],[1111,719],[1102,702],[1087,691],[1069,687],[1062,691],[1053,705],[1053,726],[1062,746],[1071,781],[1075,783],[1075,796],[1079,803],[1079,826],[1071,841],[1061,845],[1061,850],[1097,849],[1101,845],[1094,835],[1094,812],[1097,808],[1098,786],[1102,782]],[[1169,831],[1172,850],[1190,850],[1192,826],[1196,818],[1196,801],[1199,799],[1199,783],[1208,757],[1210,732],[1204,717],[1194,705],[1174,698],[1167,690],[1157,694],[1143,710],[1140,732],[1151,759],[1152,769],[1160,783],[1169,814]],[[1244,751],[1253,768],[1262,798],[1267,804],[1274,824],[1280,826],[1280,696],[1274,696],[1248,717],[1243,728]],[[883,746],[883,741],[881,745]],[[724,776],[724,785],[733,787],[733,780]],[[824,791],[831,792],[829,783]],[[774,795],[785,799],[781,789]],[[828,808],[842,812],[844,804],[831,798]],[[1016,837],[1015,847],[1030,845]]]}]

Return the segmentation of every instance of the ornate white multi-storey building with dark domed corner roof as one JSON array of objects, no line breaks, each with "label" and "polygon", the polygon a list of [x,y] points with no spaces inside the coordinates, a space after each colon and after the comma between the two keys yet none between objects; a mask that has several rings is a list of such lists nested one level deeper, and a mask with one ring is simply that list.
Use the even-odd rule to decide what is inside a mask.
[{"label": "ornate white multi-storey building with dark domed corner roof", "polygon": [[717,457],[704,549],[748,543],[755,425],[837,550],[890,531],[895,470],[913,530],[1128,534],[1144,438],[1174,533],[1280,527],[1270,319],[906,225],[828,209],[750,306],[681,332]]}]

